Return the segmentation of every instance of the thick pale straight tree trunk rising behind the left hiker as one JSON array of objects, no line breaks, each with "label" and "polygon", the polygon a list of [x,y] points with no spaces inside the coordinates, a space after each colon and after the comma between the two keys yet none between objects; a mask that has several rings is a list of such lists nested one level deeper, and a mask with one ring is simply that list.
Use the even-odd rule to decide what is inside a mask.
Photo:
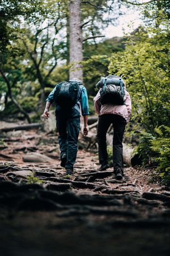
[{"label": "thick pale straight tree trunk rising behind the left hiker", "polygon": [[80,63],[83,60],[82,28],[80,0],[69,3],[69,27],[70,27],[70,79],[77,77],[83,79],[83,69]]}]

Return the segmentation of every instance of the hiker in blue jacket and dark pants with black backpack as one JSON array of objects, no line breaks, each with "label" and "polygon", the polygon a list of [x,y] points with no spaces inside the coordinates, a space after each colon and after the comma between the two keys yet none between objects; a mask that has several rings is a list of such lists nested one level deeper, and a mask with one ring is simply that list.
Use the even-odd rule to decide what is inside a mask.
[{"label": "hiker in blue jacket and dark pants with black backpack", "polygon": [[50,105],[56,102],[56,121],[59,133],[58,141],[61,151],[61,166],[66,174],[73,174],[73,167],[78,151],[78,135],[80,130],[80,106],[84,119],[83,134],[88,134],[88,97],[87,90],[79,79],[61,82],[55,86],[46,98],[44,117],[49,118]]}]

